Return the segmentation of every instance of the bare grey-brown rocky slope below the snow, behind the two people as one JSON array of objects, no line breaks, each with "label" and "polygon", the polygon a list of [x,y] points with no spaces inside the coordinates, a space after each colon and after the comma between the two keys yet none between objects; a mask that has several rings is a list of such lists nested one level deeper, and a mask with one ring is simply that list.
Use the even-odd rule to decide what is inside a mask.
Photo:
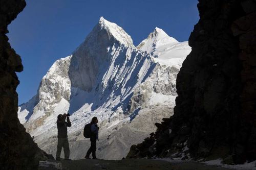
[{"label": "bare grey-brown rocky slope below the snow, behind the two people", "polygon": [[[99,131],[96,155],[99,159],[118,160],[126,157],[131,145],[142,142],[150,134],[156,131],[155,123],[161,122],[162,117],[169,117],[173,114],[171,107],[144,108],[139,111],[131,123],[126,125],[117,124],[111,128],[102,128]],[[81,127],[83,128],[83,127]],[[70,143],[70,158],[82,159],[90,147],[90,139],[83,137],[83,129],[73,133],[68,132]],[[47,133],[47,132],[46,132]],[[57,136],[45,139],[45,135],[35,137],[40,149],[48,154],[56,155]],[[63,152],[62,152],[63,154]],[[62,155],[63,156],[63,155]]]}]

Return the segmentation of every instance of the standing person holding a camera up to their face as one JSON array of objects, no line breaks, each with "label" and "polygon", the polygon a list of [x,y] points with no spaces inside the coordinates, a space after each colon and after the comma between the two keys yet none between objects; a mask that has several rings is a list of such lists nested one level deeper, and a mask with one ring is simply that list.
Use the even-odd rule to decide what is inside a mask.
[{"label": "standing person holding a camera up to their face", "polygon": [[[65,122],[67,117],[67,122]],[[56,160],[60,160],[60,153],[63,147],[65,160],[69,159],[69,140],[67,127],[71,127],[71,122],[68,114],[59,114],[57,117],[57,128],[58,128],[58,145],[56,152]]]}]

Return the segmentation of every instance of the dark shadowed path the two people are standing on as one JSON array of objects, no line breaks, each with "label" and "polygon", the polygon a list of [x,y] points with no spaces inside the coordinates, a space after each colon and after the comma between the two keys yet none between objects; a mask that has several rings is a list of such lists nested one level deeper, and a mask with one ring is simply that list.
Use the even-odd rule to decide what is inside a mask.
[{"label": "dark shadowed path the two people are standing on", "polygon": [[162,160],[152,159],[124,159],[124,160],[72,160],[72,161],[53,161],[40,162],[39,170],[45,169],[122,169],[122,170],[228,170],[218,166],[209,166],[198,162],[177,162],[170,163]]}]

